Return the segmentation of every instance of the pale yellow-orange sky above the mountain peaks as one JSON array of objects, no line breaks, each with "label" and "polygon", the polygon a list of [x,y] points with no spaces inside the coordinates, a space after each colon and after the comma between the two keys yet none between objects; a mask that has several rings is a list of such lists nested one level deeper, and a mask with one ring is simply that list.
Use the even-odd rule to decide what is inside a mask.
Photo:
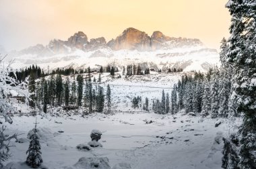
[{"label": "pale yellow-orange sky above the mountain peaks", "polygon": [[227,0],[0,0],[0,45],[21,50],[82,31],[116,38],[127,27],[170,37],[199,38],[219,49],[228,38]]}]

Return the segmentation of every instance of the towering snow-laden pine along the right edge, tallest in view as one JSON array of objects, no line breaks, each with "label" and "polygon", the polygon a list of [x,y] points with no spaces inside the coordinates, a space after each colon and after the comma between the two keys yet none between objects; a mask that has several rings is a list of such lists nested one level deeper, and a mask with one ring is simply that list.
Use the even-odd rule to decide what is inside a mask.
[{"label": "towering snow-laden pine along the right edge, tallest in view", "polygon": [[227,60],[235,69],[232,86],[237,111],[243,115],[238,166],[256,168],[256,3],[253,0],[230,0],[226,7],[232,16]]}]

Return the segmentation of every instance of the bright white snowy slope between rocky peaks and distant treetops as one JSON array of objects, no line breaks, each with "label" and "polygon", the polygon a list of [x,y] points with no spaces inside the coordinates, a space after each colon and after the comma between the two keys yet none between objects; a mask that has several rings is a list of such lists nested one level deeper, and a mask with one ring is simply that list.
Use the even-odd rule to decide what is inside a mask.
[{"label": "bright white snowy slope between rocky peaks and distant treetops", "polygon": [[111,50],[101,48],[85,52],[75,50],[70,54],[55,54],[53,56],[38,56],[24,54],[14,58],[13,68],[24,68],[37,64],[44,70],[72,66],[73,68],[100,68],[108,64],[122,68],[128,64],[141,64],[155,68],[183,68],[183,71],[200,70],[205,72],[210,66],[219,64],[219,54],[216,50],[193,46],[187,48],[173,48],[167,50],[138,51]]}]

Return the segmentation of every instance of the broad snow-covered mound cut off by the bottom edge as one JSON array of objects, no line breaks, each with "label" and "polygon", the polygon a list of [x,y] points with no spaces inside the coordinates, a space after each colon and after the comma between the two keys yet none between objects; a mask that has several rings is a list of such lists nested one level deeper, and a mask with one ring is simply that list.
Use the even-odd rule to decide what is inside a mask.
[{"label": "broad snow-covered mound cut off by the bottom edge", "polygon": [[110,169],[108,164],[108,158],[85,158],[82,157],[74,165],[75,168],[84,168],[84,169]]}]

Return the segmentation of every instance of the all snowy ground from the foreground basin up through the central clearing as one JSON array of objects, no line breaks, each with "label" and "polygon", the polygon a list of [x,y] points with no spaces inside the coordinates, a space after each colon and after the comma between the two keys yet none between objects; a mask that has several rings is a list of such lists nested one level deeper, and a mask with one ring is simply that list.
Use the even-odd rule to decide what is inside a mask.
[{"label": "all snowy ground from the foreground basin up through the central clearing", "polygon": [[[163,89],[170,94],[173,84],[182,74],[152,72],[145,76],[113,78],[104,73],[100,85],[106,89],[106,85],[110,84],[111,108],[115,114],[93,113],[82,117],[83,109],[79,109],[79,115],[73,115],[61,108],[53,108],[47,114],[37,115],[43,166],[74,169],[79,168],[74,166],[79,158],[106,157],[111,167],[126,162],[133,169],[221,168],[222,137],[234,129],[230,121],[202,119],[183,115],[182,112],[177,115],[152,113],[152,99],[161,99]],[[98,74],[92,76],[98,79]],[[119,76],[118,73],[116,76]],[[150,112],[143,111],[141,107],[131,108],[131,99],[137,96],[141,96],[142,104],[148,97]],[[15,107],[21,113],[30,111],[25,105]],[[36,117],[15,115],[13,124],[7,125],[7,133],[22,133],[19,137],[24,142],[11,142],[15,145],[11,148],[13,156],[8,161],[12,169],[29,168],[24,163],[30,142],[26,137],[35,121]],[[217,121],[222,123],[215,127]],[[102,148],[77,150],[77,145],[91,141],[92,129],[102,131],[99,141]]]}]

